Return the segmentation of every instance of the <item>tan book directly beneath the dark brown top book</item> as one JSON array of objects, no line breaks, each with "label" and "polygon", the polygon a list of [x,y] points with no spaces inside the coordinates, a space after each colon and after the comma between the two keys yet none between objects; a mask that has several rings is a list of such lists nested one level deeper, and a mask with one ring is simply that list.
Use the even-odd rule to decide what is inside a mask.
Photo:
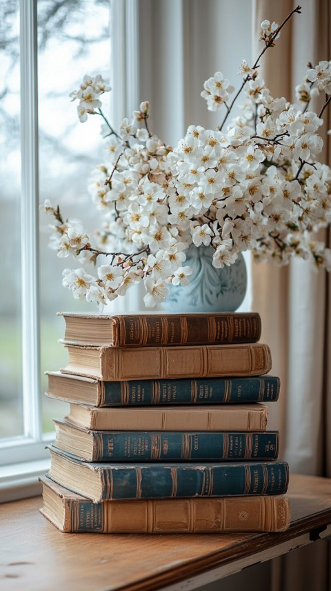
[{"label": "tan book directly beneath the dark brown top book", "polygon": [[268,345],[187,345],[117,349],[66,345],[69,361],[61,372],[103,381],[237,377],[271,369]]}]

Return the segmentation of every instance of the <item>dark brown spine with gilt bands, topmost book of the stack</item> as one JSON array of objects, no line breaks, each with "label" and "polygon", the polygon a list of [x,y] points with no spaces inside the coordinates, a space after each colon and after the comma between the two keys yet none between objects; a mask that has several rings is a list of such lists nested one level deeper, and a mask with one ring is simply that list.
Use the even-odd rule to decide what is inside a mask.
[{"label": "dark brown spine with gilt bands, topmost book of the stack", "polygon": [[254,343],[261,336],[259,314],[140,315],[113,319],[115,347]]}]

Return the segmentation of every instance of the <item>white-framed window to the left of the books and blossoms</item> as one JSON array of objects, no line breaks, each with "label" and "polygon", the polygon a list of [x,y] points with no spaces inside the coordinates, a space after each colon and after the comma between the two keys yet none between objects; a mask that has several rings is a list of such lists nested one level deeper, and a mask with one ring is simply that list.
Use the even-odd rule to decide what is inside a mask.
[{"label": "white-framed window to the left of the books and blossoms", "polygon": [[94,228],[86,171],[102,160],[99,126],[81,126],[68,95],[86,73],[108,77],[110,0],[8,0],[0,38],[0,465],[12,465],[10,476],[15,464],[48,457],[51,419],[66,410],[43,396],[43,372],[66,363],[56,312],[73,304],[38,202],[66,202],[70,216],[78,204]]}]

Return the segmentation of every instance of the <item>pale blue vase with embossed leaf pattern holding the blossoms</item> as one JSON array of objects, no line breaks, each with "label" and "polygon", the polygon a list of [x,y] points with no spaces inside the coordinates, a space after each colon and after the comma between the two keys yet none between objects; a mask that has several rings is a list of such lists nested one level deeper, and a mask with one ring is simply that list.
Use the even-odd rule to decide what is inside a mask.
[{"label": "pale blue vase with embossed leaf pattern holding the blossoms", "polygon": [[212,266],[211,246],[194,246],[187,251],[183,265],[192,268],[190,285],[170,286],[162,304],[172,314],[185,312],[234,312],[241,305],[247,288],[247,272],[243,255],[230,267]]}]

